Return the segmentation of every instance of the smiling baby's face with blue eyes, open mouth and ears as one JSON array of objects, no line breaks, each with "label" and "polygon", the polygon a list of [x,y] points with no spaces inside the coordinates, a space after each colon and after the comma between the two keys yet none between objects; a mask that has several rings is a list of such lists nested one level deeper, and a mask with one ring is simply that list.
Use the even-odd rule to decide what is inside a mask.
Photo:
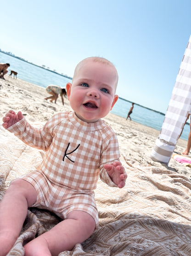
[{"label": "smiling baby's face with blue eyes, open mouth and ears", "polygon": [[96,122],[105,117],[118,100],[115,95],[118,74],[114,66],[85,60],[79,66],[73,83],[67,83],[67,97],[77,117]]}]

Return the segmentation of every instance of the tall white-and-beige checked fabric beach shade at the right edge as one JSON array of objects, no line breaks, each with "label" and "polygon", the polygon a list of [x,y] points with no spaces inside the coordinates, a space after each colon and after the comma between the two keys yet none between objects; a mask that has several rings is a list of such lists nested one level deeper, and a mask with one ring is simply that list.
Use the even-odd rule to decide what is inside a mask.
[{"label": "tall white-and-beige checked fabric beach shade at the right edge", "polygon": [[153,161],[169,163],[191,110],[191,36],[185,49],[163,125],[151,152]]}]

